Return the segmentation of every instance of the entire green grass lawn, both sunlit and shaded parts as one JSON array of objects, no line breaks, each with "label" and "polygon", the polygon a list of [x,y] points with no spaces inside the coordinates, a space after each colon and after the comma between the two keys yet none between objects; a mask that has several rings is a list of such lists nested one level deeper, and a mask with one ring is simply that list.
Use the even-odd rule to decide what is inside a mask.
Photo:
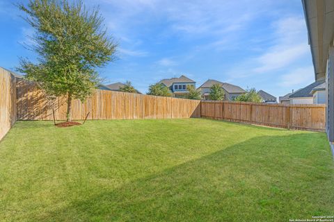
[{"label": "entire green grass lawn, both sunlit and shaded parts", "polygon": [[334,214],[326,135],[207,119],[18,121],[0,221],[289,221]]}]

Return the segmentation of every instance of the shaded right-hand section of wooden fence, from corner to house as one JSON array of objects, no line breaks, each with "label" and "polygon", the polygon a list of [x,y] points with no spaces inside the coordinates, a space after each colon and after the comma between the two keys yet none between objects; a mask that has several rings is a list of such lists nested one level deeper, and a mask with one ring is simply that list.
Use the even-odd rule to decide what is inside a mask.
[{"label": "shaded right-hand section of wooden fence, from corner to house", "polygon": [[325,130],[326,105],[201,101],[201,117],[296,130]]}]

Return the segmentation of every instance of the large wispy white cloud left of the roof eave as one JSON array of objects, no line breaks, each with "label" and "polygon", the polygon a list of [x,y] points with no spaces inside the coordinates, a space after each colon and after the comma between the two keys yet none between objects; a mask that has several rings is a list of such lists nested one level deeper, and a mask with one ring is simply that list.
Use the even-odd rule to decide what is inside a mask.
[{"label": "large wispy white cloud left of the roof eave", "polygon": [[303,18],[280,19],[273,22],[272,28],[273,36],[264,39],[266,44],[269,42],[271,45],[264,51],[262,49],[260,55],[248,58],[237,67],[232,67],[228,72],[230,78],[258,76],[273,71],[281,72],[296,67],[297,63],[300,64],[302,60],[307,59],[310,48]]}]

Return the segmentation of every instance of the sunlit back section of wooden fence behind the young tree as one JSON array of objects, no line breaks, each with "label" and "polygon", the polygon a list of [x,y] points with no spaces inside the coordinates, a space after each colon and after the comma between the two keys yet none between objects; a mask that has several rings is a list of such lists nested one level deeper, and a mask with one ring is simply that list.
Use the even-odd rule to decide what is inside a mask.
[{"label": "sunlit back section of wooden fence behind the young tree", "polygon": [[[33,83],[17,83],[17,119],[66,119],[65,97],[47,99]],[[200,101],[97,89],[85,103],[72,101],[72,119],[173,119],[200,117]]]}]

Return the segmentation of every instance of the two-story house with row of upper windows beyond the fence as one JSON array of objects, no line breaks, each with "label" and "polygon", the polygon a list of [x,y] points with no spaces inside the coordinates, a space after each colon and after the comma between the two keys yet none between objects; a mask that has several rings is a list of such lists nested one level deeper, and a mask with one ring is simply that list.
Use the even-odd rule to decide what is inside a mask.
[{"label": "two-story house with row of upper windows beyond the fence", "polygon": [[196,88],[196,82],[184,75],[180,76],[179,78],[166,78],[161,80],[159,83],[166,85],[166,87],[168,87],[173,93],[173,97],[176,98],[184,98],[186,96],[188,93],[186,87],[188,85],[192,85],[194,88]]}]

